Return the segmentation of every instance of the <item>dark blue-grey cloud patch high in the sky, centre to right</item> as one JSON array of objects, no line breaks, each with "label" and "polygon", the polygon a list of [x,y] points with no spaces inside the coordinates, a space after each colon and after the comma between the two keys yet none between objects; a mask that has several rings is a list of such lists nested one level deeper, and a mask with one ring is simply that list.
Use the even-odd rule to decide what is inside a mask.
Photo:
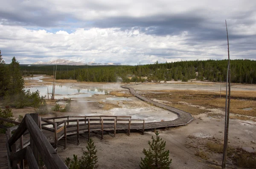
[{"label": "dark blue-grey cloud patch high in the sky, centre to right", "polygon": [[99,28],[140,28],[146,34],[167,35],[178,34],[188,28],[197,28],[204,22],[202,17],[193,17],[190,14],[175,16],[155,15],[150,17],[109,17],[96,20],[93,25]]}]

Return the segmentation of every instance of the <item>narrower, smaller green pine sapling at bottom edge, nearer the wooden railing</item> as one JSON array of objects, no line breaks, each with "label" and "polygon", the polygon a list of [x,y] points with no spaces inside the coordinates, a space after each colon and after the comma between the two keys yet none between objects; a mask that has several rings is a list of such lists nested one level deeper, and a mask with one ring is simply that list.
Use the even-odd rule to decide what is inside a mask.
[{"label": "narrower, smaller green pine sapling at bottom edge, nearer the wooden railing", "polygon": [[86,146],[87,151],[83,150],[83,156],[81,157],[80,161],[80,168],[81,169],[94,169],[98,165],[96,163],[98,162],[98,157],[96,155],[96,146],[94,145],[93,140],[90,138],[90,140],[87,142]]}]

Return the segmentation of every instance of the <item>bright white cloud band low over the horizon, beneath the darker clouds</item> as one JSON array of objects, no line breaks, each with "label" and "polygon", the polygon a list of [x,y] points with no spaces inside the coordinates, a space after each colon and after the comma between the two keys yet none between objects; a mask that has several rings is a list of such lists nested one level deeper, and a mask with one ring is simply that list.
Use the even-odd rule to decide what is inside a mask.
[{"label": "bright white cloud band low over the horizon, beneath the darker clouds", "polygon": [[[135,32],[135,34],[134,34]],[[20,63],[49,61],[57,58],[84,62],[122,62],[141,64],[171,62],[186,59],[226,58],[226,42],[187,45],[189,32],[175,36],[156,37],[138,30],[121,31],[119,28],[77,29],[68,34],[45,30],[0,25],[0,49],[14,54]],[[237,52],[235,57],[248,54]],[[11,60],[9,57],[8,60]]]}]

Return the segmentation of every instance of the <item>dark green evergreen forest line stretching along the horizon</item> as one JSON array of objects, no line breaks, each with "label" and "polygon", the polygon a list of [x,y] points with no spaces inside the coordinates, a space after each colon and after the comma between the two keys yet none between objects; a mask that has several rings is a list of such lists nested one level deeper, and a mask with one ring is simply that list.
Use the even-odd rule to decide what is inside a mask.
[{"label": "dark green evergreen forest line stretching along the horizon", "polygon": [[[181,61],[137,66],[57,66],[56,79],[75,79],[79,82],[158,82],[160,80],[190,79],[212,82],[226,81],[227,60]],[[231,82],[256,83],[256,61],[230,61]],[[21,67],[23,74],[53,75],[53,66]]]}]

